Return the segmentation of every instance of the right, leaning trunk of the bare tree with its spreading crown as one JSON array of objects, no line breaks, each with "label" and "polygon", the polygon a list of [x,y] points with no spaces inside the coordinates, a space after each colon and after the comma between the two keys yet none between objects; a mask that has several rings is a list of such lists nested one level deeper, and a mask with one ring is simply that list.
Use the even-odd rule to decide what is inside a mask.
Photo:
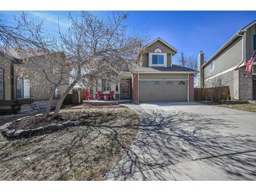
[{"label": "right, leaning trunk of the bare tree with its spreading crown", "polygon": [[132,67],[141,41],[125,36],[126,17],[126,13],[118,13],[104,21],[85,11],[80,20],[69,15],[72,27],[60,36],[65,55],[69,55],[72,63],[71,83],[58,100],[54,116],[58,116],[62,102],[79,81],[91,76],[115,78],[119,74],[117,61]]}]

